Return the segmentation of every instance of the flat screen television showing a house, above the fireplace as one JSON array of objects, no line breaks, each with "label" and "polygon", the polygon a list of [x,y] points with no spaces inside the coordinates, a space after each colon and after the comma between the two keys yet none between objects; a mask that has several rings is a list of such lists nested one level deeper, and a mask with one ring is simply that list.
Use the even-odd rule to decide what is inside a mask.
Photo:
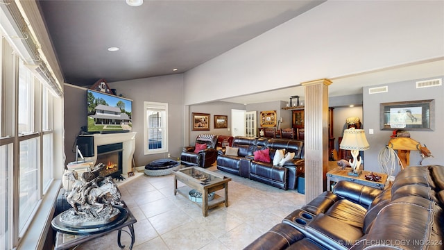
[{"label": "flat screen television showing a house, above the fireplace", "polygon": [[133,100],[87,90],[87,133],[131,131]]}]

